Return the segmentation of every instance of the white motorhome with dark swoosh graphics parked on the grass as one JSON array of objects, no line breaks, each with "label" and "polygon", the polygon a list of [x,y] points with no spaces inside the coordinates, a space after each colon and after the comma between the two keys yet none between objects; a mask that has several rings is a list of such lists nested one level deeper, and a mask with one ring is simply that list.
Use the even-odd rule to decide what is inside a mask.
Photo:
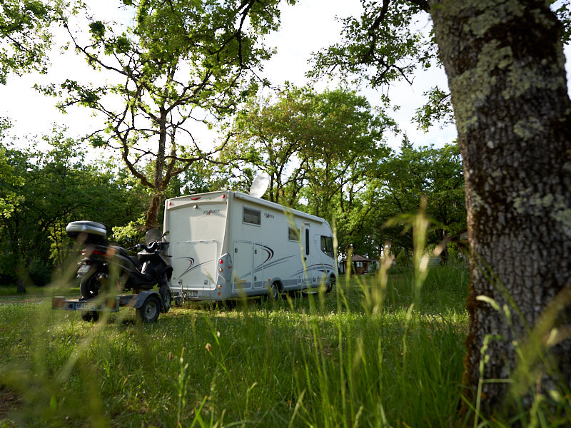
[{"label": "white motorhome with dark swoosh graphics parked on the grass", "polygon": [[302,290],[335,283],[333,233],[323,218],[233,191],[165,201],[171,290],[188,300]]}]

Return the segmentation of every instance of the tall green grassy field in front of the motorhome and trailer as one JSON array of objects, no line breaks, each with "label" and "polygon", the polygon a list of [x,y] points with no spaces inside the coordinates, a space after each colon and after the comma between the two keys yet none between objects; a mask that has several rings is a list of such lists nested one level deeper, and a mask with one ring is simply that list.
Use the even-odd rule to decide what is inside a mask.
[{"label": "tall green grassy field in front of the motorhome and trailer", "polygon": [[408,271],[341,277],[143,326],[4,302],[0,427],[458,426],[467,288],[463,267],[435,267],[420,293]]}]

